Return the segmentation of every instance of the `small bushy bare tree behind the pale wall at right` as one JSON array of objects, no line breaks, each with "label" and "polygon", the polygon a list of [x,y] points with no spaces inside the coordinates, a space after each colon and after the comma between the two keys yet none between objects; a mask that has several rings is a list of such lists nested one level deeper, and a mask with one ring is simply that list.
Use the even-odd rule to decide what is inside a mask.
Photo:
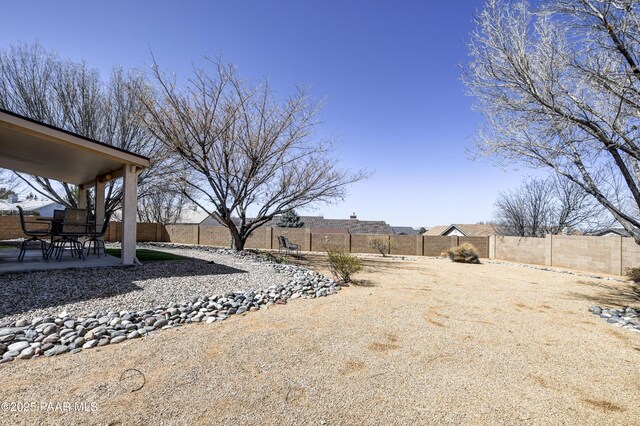
[{"label": "small bushy bare tree behind the pale wall at right", "polygon": [[494,224],[501,235],[592,233],[613,224],[595,198],[564,178],[529,179],[499,194]]}]

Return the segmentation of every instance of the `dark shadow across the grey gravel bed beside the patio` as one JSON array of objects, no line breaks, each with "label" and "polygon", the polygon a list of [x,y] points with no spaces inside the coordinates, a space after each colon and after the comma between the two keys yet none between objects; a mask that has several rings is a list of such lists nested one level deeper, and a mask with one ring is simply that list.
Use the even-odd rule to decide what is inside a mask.
[{"label": "dark shadow across the grey gravel bed beside the patio", "polygon": [[0,318],[139,291],[142,290],[139,283],[149,280],[175,278],[175,285],[178,286],[183,277],[244,273],[247,271],[200,259],[189,259],[147,262],[134,267],[4,274],[0,275]]}]

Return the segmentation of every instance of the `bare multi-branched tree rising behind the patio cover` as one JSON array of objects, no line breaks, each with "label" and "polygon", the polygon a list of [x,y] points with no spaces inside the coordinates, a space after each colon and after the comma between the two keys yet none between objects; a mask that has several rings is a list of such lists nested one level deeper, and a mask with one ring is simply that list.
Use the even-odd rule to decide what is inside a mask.
[{"label": "bare multi-branched tree rising behind the patio cover", "polygon": [[[144,75],[114,68],[108,81],[84,62],[63,60],[39,44],[0,51],[0,108],[82,136],[151,157],[139,176],[139,198],[165,192],[173,160],[140,122],[140,91],[149,90]],[[42,176],[20,178],[39,194],[77,207],[77,188]],[[106,210],[120,207],[122,185],[106,188]]]}]

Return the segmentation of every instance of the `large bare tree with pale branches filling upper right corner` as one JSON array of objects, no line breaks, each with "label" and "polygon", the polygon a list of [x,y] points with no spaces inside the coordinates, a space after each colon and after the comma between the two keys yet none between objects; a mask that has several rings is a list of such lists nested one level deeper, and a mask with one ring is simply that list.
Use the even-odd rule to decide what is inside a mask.
[{"label": "large bare tree with pale branches filling upper right corner", "polygon": [[488,0],[464,80],[486,125],[479,154],[546,167],[640,243],[640,3]]}]

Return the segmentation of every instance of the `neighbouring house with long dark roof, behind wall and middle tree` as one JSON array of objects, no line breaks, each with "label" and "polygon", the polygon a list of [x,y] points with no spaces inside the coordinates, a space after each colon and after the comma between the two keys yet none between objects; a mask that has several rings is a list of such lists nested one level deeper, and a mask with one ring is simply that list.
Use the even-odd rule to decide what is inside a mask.
[{"label": "neighbouring house with long dark roof, behind wall and middle tree", "polygon": [[[280,216],[276,216],[265,223],[266,227],[277,228]],[[304,223],[304,228],[311,228],[314,233],[326,234],[388,234],[393,235],[393,229],[383,220],[359,220],[355,214],[349,219],[325,219],[322,216],[300,216],[300,221]],[[239,225],[237,219],[233,221]],[[222,226],[220,222],[212,216],[203,220],[202,226]]]}]

